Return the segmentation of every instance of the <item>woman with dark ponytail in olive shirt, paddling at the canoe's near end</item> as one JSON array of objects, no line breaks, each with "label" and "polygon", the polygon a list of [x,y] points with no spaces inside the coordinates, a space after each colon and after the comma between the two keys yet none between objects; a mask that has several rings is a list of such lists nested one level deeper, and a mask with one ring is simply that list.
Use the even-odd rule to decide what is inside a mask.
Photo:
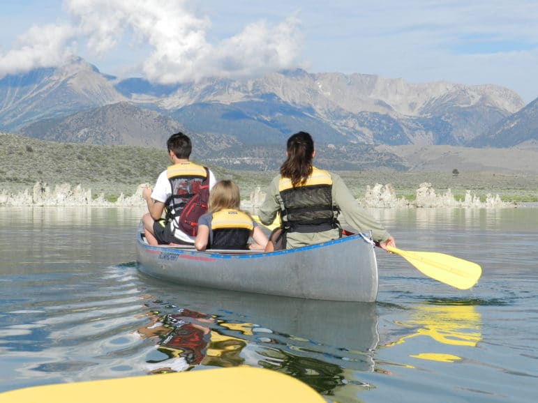
[{"label": "woman with dark ponytail in olive shirt, paddling at the canoe's near end", "polygon": [[338,214],[355,231],[372,232],[381,248],[395,247],[394,238],[354,199],[340,176],[317,169],[314,141],[307,132],[287,139],[286,160],[266,192],[258,214],[270,225],[278,214],[281,228],[276,229],[267,251],[291,249],[341,238]]}]

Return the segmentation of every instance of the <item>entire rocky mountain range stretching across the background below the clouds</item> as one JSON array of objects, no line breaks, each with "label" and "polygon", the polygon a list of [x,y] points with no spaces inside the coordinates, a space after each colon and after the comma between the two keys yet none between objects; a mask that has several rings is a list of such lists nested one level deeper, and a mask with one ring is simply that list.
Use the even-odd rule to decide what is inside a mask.
[{"label": "entire rocky mountain range stretching across the background below the clouds", "polygon": [[[198,155],[258,169],[280,161],[285,139],[305,130],[329,146],[332,163],[356,169],[361,158],[375,163],[380,145],[525,146],[538,139],[538,99],[525,105],[495,85],[304,70],[160,85],[121,80],[76,59],[0,79],[0,129],[59,142],[157,147],[184,130]],[[398,169],[398,158],[384,157]]]}]

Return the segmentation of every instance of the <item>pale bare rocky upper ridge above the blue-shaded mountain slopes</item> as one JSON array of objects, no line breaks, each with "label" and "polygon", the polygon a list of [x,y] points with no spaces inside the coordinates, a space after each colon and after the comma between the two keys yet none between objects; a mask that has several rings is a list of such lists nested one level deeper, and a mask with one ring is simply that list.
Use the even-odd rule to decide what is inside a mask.
[{"label": "pale bare rocky upper ridge above the blue-shaded mountain slopes", "polygon": [[[467,86],[449,82],[413,84],[403,79],[353,73],[307,73],[304,70],[271,73],[244,81],[205,80],[179,86],[165,100],[154,101],[163,109],[179,109],[197,102],[231,104],[273,93],[291,105],[310,105],[317,112],[343,109],[352,114],[376,112],[394,116],[426,116],[447,105],[485,105],[514,113],[524,106],[514,92],[490,84]],[[142,94],[143,96],[144,94]],[[124,93],[137,100],[137,94]],[[144,98],[140,98],[144,102]]]}]

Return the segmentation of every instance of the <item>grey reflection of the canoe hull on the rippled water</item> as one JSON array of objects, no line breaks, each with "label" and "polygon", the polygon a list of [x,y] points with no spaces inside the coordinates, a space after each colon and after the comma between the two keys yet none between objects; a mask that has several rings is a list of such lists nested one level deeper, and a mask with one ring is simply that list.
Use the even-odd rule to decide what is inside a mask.
[{"label": "grey reflection of the canoe hull on the rippled water", "polygon": [[151,312],[177,314],[178,307],[188,307],[214,317],[219,326],[212,326],[212,330],[217,333],[260,347],[255,349],[257,358],[252,362],[247,358],[248,365],[260,365],[265,361],[260,351],[274,349],[289,363],[304,363],[307,358],[319,361],[318,367],[325,370],[336,366],[373,371],[373,351],[380,340],[375,303],[211,290],[150,278],[145,281],[148,288],[144,292],[158,296],[156,303],[147,305]]}]

